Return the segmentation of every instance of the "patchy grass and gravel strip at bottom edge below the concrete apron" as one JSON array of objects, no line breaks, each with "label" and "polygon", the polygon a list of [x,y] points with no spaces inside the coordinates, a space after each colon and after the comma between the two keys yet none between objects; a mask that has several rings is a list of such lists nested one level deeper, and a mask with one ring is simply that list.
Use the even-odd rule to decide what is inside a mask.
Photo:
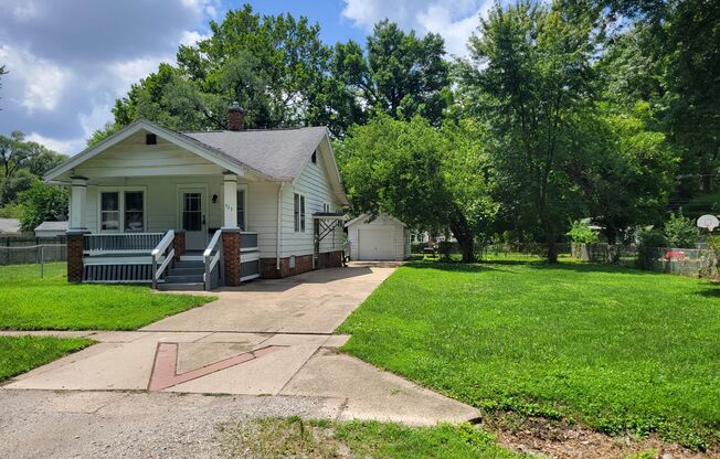
[{"label": "patchy grass and gravel strip at bottom edge below the concrete apron", "polygon": [[[230,457],[271,458],[521,458],[469,424],[411,428],[374,421],[261,419],[220,427]],[[250,452],[250,455],[248,455]]]}]

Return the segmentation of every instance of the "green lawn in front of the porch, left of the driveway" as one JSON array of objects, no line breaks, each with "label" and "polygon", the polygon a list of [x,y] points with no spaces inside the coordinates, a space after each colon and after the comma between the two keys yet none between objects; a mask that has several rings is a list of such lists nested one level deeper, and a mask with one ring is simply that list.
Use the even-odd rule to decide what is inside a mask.
[{"label": "green lawn in front of the porch, left of the driveway", "polygon": [[0,266],[0,330],[135,330],[213,300],[146,286],[73,285],[65,264]]}]

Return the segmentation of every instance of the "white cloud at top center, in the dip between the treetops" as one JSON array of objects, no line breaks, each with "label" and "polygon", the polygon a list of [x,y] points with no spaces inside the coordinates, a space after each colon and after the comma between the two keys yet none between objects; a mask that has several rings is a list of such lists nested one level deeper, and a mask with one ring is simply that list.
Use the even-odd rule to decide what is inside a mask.
[{"label": "white cloud at top center, in the dip between the treetops", "polygon": [[345,0],[342,15],[367,31],[383,19],[417,33],[438,33],[449,54],[467,53],[467,39],[493,0]]}]

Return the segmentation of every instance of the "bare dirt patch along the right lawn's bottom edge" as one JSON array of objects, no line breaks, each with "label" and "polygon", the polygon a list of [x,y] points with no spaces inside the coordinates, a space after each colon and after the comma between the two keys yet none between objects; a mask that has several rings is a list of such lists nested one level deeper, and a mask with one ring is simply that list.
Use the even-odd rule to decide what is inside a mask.
[{"label": "bare dirt patch along the right lawn's bottom edge", "polygon": [[657,435],[647,437],[611,437],[576,424],[522,417],[505,413],[484,418],[481,428],[494,431],[498,444],[517,452],[551,458],[637,458],[700,459],[718,457],[720,451],[691,451],[663,441]]}]

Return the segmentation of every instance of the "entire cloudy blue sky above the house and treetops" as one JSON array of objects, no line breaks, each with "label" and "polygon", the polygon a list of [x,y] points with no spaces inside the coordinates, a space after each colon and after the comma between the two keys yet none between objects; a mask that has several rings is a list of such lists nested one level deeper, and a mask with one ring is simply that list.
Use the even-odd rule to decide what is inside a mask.
[{"label": "entire cloudy blue sky above the house and treetops", "polygon": [[261,13],[290,12],[320,24],[333,44],[364,43],[388,18],[405,30],[443,35],[451,54],[465,43],[491,0],[0,0],[0,134],[25,132],[75,154],[112,119],[110,108],[179,44],[208,34],[211,20],[245,2]]}]

